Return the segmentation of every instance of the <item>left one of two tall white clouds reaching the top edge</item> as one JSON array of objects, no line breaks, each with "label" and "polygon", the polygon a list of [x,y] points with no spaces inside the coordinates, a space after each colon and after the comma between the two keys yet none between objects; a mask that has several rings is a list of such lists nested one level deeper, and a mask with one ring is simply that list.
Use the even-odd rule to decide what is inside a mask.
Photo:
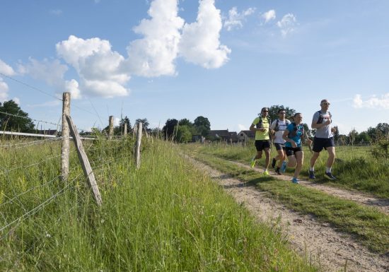
[{"label": "left one of two tall white clouds reaching the top edge", "polygon": [[127,47],[127,67],[138,76],[173,76],[178,55],[180,29],[184,20],[178,16],[177,0],[155,0],[149,8],[151,19],[143,19],[134,32],[144,38]]}]

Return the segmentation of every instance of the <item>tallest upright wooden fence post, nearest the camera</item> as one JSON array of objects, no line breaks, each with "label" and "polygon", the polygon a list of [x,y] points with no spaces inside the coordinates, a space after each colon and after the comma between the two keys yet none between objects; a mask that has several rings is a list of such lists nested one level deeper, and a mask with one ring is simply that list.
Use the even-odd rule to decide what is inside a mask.
[{"label": "tallest upright wooden fence post, nearest the camera", "polygon": [[65,181],[69,176],[69,125],[66,115],[70,115],[70,93],[62,95],[62,146],[61,146],[61,179]]}]

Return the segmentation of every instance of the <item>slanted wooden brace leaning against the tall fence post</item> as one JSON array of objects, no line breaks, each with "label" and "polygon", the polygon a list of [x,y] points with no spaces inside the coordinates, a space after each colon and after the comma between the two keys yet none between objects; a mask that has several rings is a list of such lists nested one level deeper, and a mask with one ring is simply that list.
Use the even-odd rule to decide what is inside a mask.
[{"label": "slanted wooden brace leaning against the tall fence post", "polygon": [[76,145],[77,154],[79,155],[83,173],[86,176],[86,180],[88,181],[89,186],[92,188],[95,201],[98,203],[98,206],[101,206],[103,201],[101,200],[100,191],[98,190],[91,164],[89,163],[88,157],[86,156],[85,150],[83,149],[79,131],[77,131],[76,126],[74,126],[73,121],[71,121],[71,117],[69,115],[66,115],[66,121],[69,124],[71,135],[73,136],[74,144]]}]

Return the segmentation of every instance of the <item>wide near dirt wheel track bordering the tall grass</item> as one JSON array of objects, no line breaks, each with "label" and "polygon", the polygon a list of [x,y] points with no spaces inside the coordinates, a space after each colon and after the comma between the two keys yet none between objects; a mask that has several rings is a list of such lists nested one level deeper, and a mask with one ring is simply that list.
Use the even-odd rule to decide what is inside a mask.
[{"label": "wide near dirt wheel track bordering the tall grass", "polygon": [[389,271],[388,254],[373,254],[351,235],[335,230],[329,223],[320,222],[313,215],[291,211],[255,185],[245,184],[202,162],[185,157],[199,170],[207,172],[238,203],[244,203],[258,220],[280,225],[296,252],[308,263],[317,266],[319,271]]}]

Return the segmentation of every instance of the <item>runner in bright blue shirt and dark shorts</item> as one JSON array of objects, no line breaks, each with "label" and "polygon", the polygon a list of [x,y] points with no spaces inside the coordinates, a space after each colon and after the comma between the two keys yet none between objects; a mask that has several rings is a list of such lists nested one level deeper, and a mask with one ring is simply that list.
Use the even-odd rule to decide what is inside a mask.
[{"label": "runner in bright blue shirt and dark shorts", "polygon": [[[298,184],[298,175],[300,175],[301,168],[303,167],[304,153],[301,147],[301,139],[304,138],[304,126],[301,124],[303,121],[303,114],[294,114],[294,122],[286,127],[282,138],[286,141],[285,149],[286,156],[288,157],[288,167],[296,167],[294,170],[294,176],[291,182]],[[312,143],[308,139],[308,144]],[[286,170],[286,161],[282,162],[281,172]]]}]

